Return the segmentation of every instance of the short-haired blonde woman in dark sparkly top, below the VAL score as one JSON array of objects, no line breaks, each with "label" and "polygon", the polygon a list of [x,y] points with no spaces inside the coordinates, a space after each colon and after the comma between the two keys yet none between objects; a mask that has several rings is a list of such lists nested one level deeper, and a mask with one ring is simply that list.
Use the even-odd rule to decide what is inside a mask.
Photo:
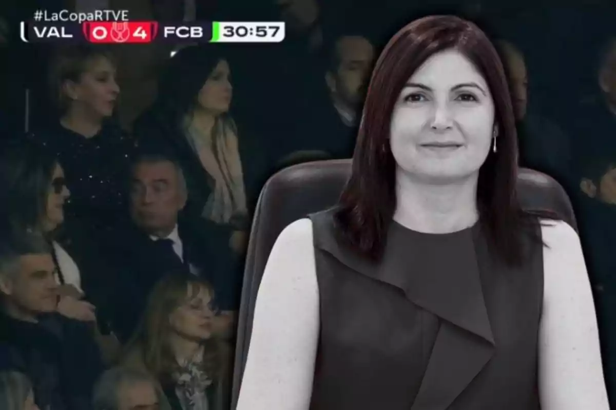
[{"label": "short-haired blonde woman in dark sparkly top, below the VAL score", "polygon": [[52,62],[51,93],[58,119],[35,138],[59,158],[71,201],[67,217],[95,231],[119,217],[121,178],[132,142],[111,121],[120,89],[108,53],[91,45],[61,50]]}]

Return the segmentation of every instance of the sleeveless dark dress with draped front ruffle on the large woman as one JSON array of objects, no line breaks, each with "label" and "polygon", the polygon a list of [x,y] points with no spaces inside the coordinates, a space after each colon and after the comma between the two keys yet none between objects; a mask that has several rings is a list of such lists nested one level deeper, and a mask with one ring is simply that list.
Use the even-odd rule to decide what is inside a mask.
[{"label": "sleeveless dark dress with draped front ruffle on the large woman", "polygon": [[[310,215],[320,294],[312,410],[537,410],[543,250],[493,258],[479,224],[421,234],[392,223],[383,259]],[[537,224],[537,229],[540,227]]]}]

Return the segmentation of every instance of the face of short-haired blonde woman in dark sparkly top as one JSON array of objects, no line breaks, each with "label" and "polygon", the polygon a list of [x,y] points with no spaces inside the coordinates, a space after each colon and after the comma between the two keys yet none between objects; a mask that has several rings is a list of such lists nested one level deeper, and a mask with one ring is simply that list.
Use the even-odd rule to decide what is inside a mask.
[{"label": "face of short-haired blonde woman in dark sparkly top", "polygon": [[115,76],[111,61],[96,57],[87,63],[79,82],[67,82],[65,91],[73,106],[96,117],[110,117],[120,93]]}]

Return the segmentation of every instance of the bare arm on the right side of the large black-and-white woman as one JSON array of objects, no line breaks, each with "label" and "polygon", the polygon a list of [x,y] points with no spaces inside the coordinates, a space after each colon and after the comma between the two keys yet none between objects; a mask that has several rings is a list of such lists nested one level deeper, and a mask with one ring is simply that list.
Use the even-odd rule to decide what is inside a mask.
[{"label": "bare arm on the right side of the large black-and-white woman", "polygon": [[539,335],[543,410],[607,410],[593,294],[580,239],[558,221],[542,227],[545,288]]}]

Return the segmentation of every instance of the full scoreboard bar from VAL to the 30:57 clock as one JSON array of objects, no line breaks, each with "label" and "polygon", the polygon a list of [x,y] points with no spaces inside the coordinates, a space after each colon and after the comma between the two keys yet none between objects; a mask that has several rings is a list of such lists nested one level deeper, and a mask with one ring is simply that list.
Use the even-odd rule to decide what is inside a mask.
[{"label": "full scoreboard bar from VAL to the 30:57 clock", "polygon": [[144,44],[150,42],[281,42],[283,22],[21,22],[24,42],[91,42]]}]

